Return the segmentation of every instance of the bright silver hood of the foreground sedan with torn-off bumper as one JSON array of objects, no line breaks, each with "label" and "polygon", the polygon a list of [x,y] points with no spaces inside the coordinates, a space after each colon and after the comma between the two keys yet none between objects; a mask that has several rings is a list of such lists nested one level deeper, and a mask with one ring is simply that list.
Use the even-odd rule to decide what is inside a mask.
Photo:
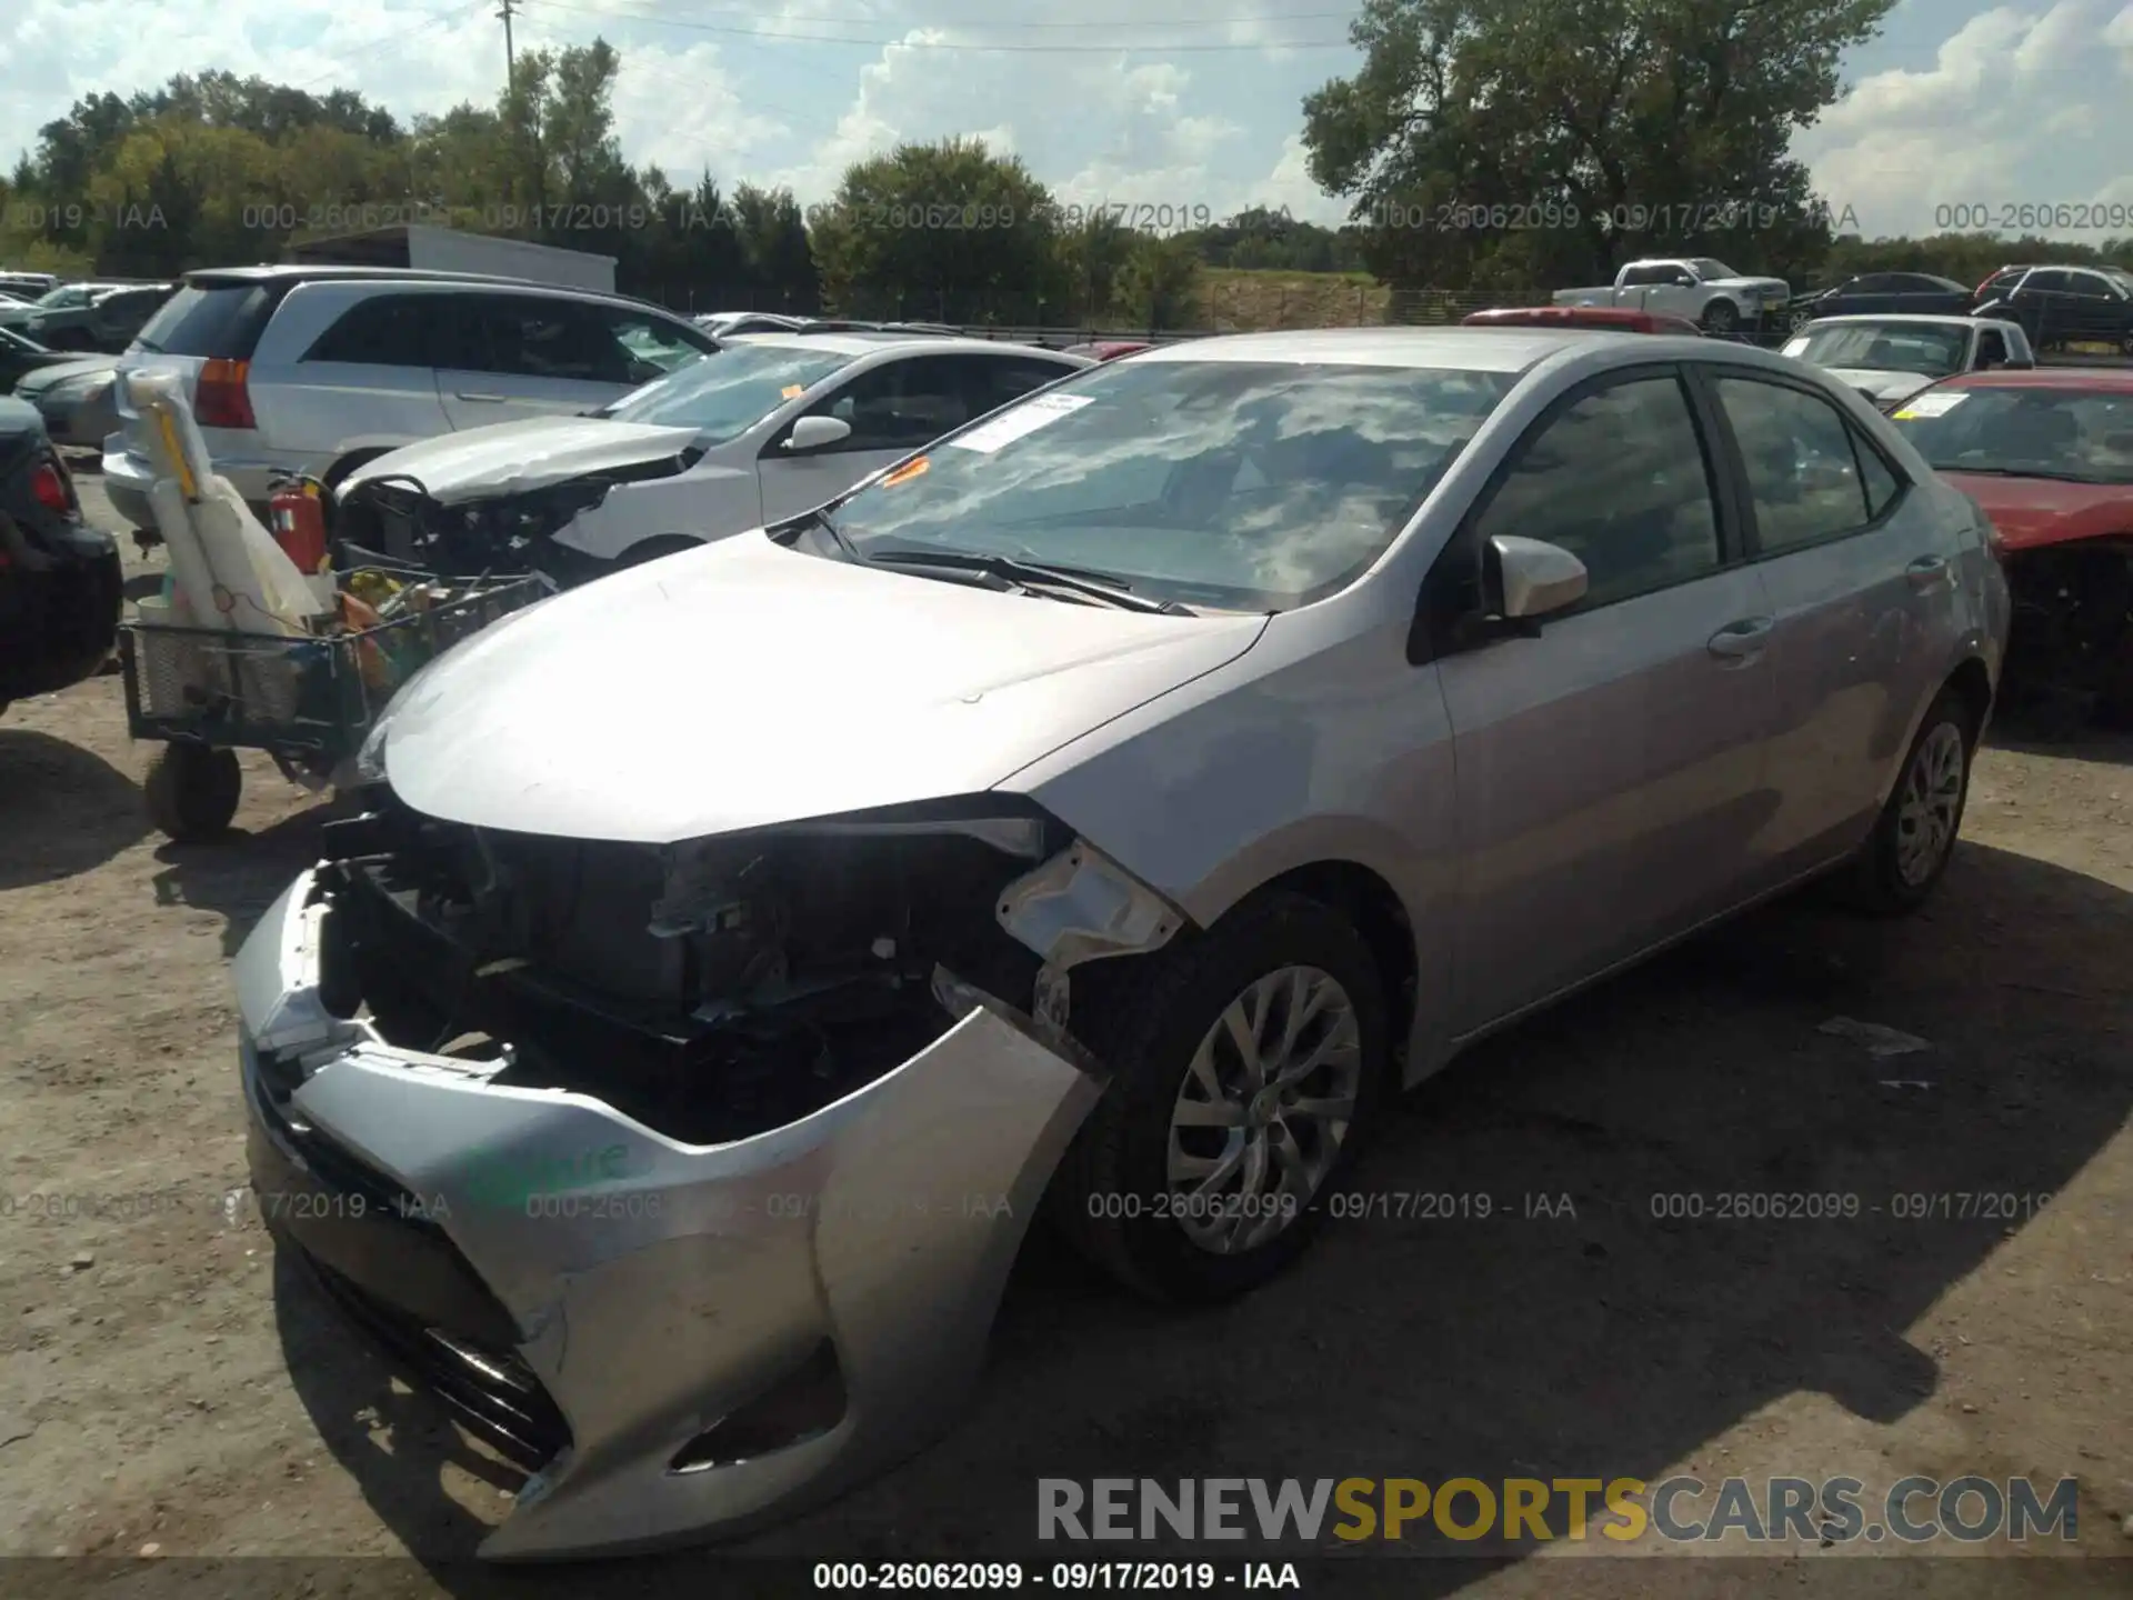
[{"label": "bright silver hood of the foreground sedan with torn-off bumper", "polygon": [[380,740],[420,813],[674,843],[979,794],[1265,623],[1005,595],[755,531],[508,617],[401,689]]}]

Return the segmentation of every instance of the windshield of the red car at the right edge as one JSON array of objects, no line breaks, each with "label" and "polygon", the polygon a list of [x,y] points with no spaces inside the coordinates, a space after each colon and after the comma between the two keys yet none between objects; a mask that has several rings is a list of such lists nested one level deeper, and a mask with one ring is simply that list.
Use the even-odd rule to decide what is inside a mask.
[{"label": "windshield of the red car at the right edge", "polygon": [[2133,484],[2133,393],[1932,388],[1894,422],[1937,471]]}]

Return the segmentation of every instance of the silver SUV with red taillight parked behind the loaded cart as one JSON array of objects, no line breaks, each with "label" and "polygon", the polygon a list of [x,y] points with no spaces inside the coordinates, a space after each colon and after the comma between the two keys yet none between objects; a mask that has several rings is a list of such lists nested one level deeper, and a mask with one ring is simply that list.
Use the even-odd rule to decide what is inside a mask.
[{"label": "silver SUV with red taillight parked behind the loaded cart", "polygon": [[390,267],[188,273],[119,361],[105,489],[154,527],[128,371],[183,373],[215,471],[262,510],[277,474],[339,482],[437,433],[570,416],[710,354],[687,318],[619,294]]}]

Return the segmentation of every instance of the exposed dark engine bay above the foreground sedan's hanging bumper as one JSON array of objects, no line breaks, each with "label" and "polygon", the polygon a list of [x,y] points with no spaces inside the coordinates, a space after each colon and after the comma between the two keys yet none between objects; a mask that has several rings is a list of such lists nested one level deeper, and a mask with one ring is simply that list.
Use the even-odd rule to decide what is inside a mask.
[{"label": "exposed dark engine bay above the foreground sedan's hanging bumper", "polygon": [[320,998],[386,1043],[493,1062],[493,1084],[580,1090],[687,1143],[740,1139],[945,1033],[936,973],[1032,1009],[1043,962],[996,909],[1062,843],[1032,811],[627,845],[380,794],[326,830]]}]

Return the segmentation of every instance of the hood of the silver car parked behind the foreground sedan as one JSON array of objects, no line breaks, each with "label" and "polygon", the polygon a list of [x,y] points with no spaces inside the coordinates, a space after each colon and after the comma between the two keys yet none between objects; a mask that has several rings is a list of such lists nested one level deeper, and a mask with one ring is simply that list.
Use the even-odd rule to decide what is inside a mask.
[{"label": "hood of the silver car parked behind the foreground sedan", "polygon": [[341,480],[341,493],[375,478],[414,478],[452,506],[491,495],[523,495],[591,471],[670,461],[695,448],[695,429],[610,422],[602,416],[535,416],[401,446]]}]

